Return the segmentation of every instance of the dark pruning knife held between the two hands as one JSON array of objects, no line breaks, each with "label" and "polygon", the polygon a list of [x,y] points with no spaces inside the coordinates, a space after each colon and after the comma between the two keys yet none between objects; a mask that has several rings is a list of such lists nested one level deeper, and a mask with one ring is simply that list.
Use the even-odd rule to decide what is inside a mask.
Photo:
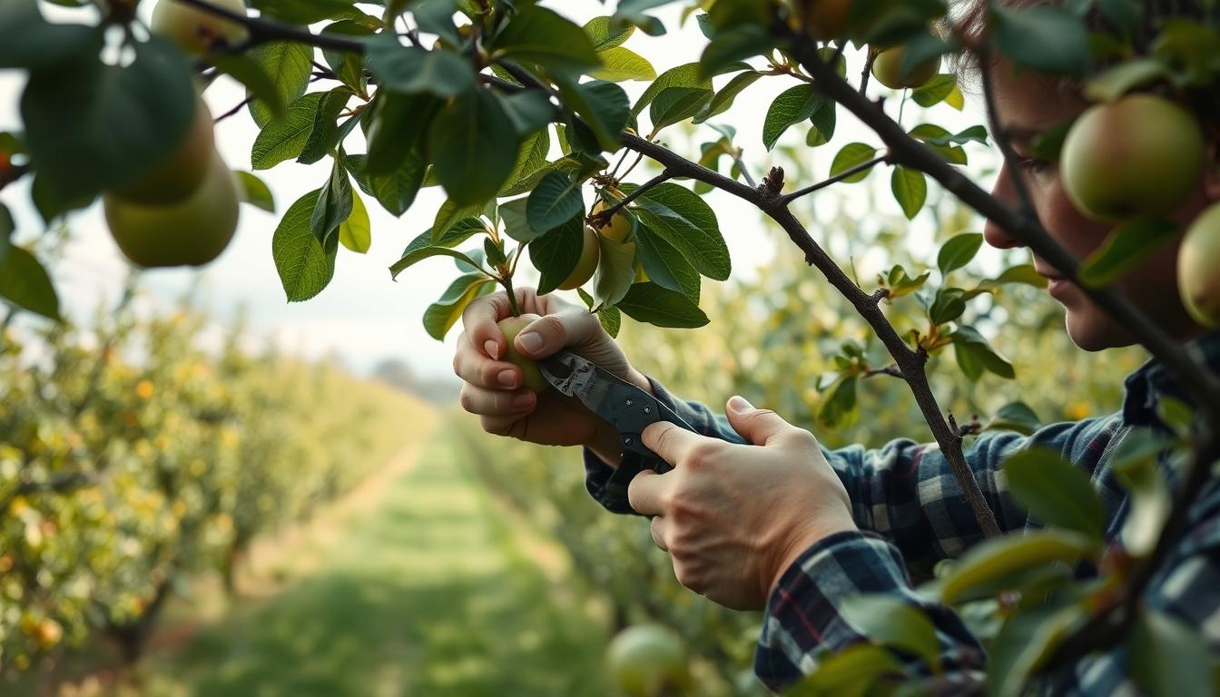
[{"label": "dark pruning knife held between the two hands", "polygon": [[[664,475],[672,470],[656,453],[644,447],[640,433],[649,424],[669,421],[676,426],[694,431],[672,409],[634,385],[622,380],[595,363],[578,356],[572,352],[561,350],[538,361],[547,382],[555,389],[575,397],[584,406],[601,419],[609,421],[619,431],[619,442],[623,450],[639,455],[631,458],[633,476],[638,470],[655,470]],[[625,466],[626,466],[626,460]],[[638,463],[636,463],[638,460]]]}]

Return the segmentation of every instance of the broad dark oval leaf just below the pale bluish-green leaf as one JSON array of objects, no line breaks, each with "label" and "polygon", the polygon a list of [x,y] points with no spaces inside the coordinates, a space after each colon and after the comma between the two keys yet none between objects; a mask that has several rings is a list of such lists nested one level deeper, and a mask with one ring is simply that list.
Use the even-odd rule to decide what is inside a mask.
[{"label": "broad dark oval leaf just below the pale bluish-green leaf", "polygon": [[432,167],[445,193],[459,204],[494,197],[512,173],[517,145],[512,122],[486,89],[456,96],[437,114],[428,131]]}]

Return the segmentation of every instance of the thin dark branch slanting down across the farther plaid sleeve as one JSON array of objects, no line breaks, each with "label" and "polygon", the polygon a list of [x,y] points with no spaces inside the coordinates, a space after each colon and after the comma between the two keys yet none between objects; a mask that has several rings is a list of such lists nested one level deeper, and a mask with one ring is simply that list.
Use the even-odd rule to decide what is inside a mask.
[{"label": "thin dark branch slanting down across the farther plaid sleeve", "polygon": [[[855,90],[852,90],[852,94],[855,94]],[[974,472],[966,464],[965,455],[961,452],[961,438],[946,422],[944,415],[936,402],[936,395],[927,382],[927,375],[924,371],[924,366],[927,363],[927,354],[921,350],[913,350],[903,342],[903,338],[898,336],[893,325],[889,323],[881,311],[878,297],[865,293],[834,264],[834,260],[814,242],[805,227],[800,225],[800,221],[792,215],[792,211],[788,210],[787,204],[783,201],[783,197],[771,193],[765,187],[756,189],[747,187],[741,182],[714,172],[697,162],[692,162],[638,135],[623,133],[621,138],[623,145],[665,165],[666,171],[672,172],[675,176],[699,179],[728,192],[754,204],[759,210],[780,223],[792,242],[805,253],[805,262],[817,267],[831,286],[855,306],[856,312],[869,322],[869,326],[877,333],[886,349],[889,350],[889,355],[893,356],[894,363],[898,364],[898,369],[906,378],[906,383],[915,395],[915,402],[919,403],[920,411],[932,430],[932,436],[941,446],[946,460],[948,460],[958,477],[963,494],[970,503],[971,511],[975,514],[980,529],[988,537],[998,536],[1000,533],[999,525],[996,522],[996,515],[987,505],[987,500],[978,488],[978,482],[975,481]]]}]

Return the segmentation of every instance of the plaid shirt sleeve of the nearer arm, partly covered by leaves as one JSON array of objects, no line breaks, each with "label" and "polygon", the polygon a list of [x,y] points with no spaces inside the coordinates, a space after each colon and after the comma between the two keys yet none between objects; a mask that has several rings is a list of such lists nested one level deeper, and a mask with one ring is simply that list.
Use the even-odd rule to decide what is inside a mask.
[{"label": "plaid shirt sleeve of the nearer arm, partly covered by leaves", "polygon": [[[1220,494],[1196,509],[1196,522],[1144,590],[1143,605],[1198,631],[1207,649],[1220,655]],[[852,531],[811,546],[781,576],[767,601],[754,671],[772,691],[787,688],[817,669],[819,659],[869,641],[842,616],[858,594],[882,594],[916,607],[936,627],[942,677],[977,685],[986,654],[961,619],[917,594],[902,555],[872,532]],[[909,674],[928,675],[919,658],[893,653]],[[1121,645],[1081,658],[1039,685],[1039,695],[1138,695]]]}]

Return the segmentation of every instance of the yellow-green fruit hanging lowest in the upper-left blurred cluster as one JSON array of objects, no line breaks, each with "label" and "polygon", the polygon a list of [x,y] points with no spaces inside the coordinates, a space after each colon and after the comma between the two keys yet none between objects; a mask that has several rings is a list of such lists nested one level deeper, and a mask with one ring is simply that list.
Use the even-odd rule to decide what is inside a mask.
[{"label": "yellow-green fruit hanging lowest in the upper-left blurred cluster", "polygon": [[102,197],[118,248],[140,266],[201,266],[220,256],[237,231],[240,189],[215,150],[207,176],[187,199],[144,206]]}]

